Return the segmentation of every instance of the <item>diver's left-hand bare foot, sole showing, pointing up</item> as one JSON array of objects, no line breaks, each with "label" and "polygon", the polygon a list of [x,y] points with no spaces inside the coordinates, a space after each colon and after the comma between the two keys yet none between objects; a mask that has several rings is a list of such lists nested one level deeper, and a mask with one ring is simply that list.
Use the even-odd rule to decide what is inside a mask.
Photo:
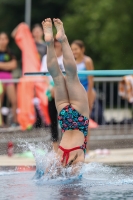
[{"label": "diver's left-hand bare foot, sole showing, pointing up", "polygon": [[44,31],[44,37],[45,42],[50,43],[53,41],[53,30],[52,30],[52,21],[50,18],[45,19],[42,22],[43,31]]}]

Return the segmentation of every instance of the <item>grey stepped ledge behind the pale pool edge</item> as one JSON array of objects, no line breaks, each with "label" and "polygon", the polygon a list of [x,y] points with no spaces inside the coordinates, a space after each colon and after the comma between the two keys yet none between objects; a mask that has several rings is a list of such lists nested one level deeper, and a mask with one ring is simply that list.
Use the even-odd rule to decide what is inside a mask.
[{"label": "grey stepped ledge behind the pale pool edge", "polygon": [[[89,149],[124,149],[133,148],[133,125],[127,126],[100,126],[90,131]],[[7,143],[14,143],[14,152],[22,152],[23,149],[18,144],[29,142],[50,142],[49,128],[33,129],[31,131],[21,131],[9,129],[0,129],[0,155],[7,153]]]}]

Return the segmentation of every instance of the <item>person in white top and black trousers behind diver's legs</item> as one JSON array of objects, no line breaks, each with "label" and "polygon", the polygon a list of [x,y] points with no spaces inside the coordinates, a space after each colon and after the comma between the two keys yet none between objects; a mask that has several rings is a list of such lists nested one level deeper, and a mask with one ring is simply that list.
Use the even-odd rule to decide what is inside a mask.
[{"label": "person in white top and black trousers behind diver's legs", "polygon": [[[62,46],[61,43],[54,39],[54,49],[57,56],[58,65],[60,66],[60,69],[64,70],[64,64],[63,64],[63,55],[62,55]],[[47,69],[47,56],[45,55],[42,59],[42,66],[41,71],[48,71]],[[51,119],[51,139],[53,141],[53,148],[57,152],[58,150],[58,139],[59,139],[59,130],[58,130],[58,121],[57,121],[57,110],[55,105],[55,96],[54,96],[54,82],[52,77],[49,76],[49,88],[47,90],[47,96],[48,96],[48,109],[49,109],[49,115]]]}]

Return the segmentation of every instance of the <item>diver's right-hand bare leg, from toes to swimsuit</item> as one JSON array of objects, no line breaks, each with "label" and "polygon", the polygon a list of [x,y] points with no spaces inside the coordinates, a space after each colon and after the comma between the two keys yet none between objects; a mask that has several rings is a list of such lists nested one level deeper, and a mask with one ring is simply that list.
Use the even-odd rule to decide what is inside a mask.
[{"label": "diver's right-hand bare leg, from toes to swimsuit", "polygon": [[88,97],[85,89],[78,79],[77,66],[65,35],[63,23],[60,19],[54,19],[54,25],[57,29],[56,39],[62,44],[63,62],[66,71],[65,79],[69,101],[73,107],[79,111],[79,113],[89,118]]}]

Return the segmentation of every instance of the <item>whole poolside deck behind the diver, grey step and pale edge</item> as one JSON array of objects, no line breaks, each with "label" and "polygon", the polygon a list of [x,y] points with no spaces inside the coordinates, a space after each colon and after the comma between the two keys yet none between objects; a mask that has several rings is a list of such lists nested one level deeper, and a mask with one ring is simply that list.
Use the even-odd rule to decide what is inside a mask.
[{"label": "whole poolside deck behind the diver, grey step and pale edge", "polygon": [[[14,144],[14,156],[9,158],[7,144]],[[34,166],[32,158],[17,157],[17,153],[25,151],[20,143],[44,144],[50,142],[49,128],[21,131],[19,129],[0,129],[0,166]],[[99,155],[95,149],[109,149],[108,155]],[[109,165],[131,165],[133,166],[133,126],[101,126],[91,130],[89,143],[89,156],[86,162],[99,162]]]}]

